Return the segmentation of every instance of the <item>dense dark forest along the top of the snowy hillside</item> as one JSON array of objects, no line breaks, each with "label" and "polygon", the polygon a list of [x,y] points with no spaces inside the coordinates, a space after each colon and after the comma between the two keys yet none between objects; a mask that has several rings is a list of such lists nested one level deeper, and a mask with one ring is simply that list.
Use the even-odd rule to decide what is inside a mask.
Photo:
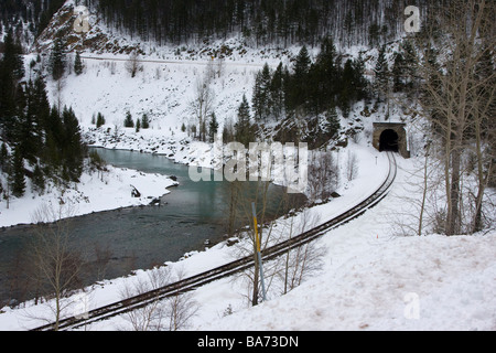
[{"label": "dense dark forest along the top of the snowy hillside", "polygon": [[[80,1],[84,2],[84,1]],[[143,41],[181,44],[242,34],[256,45],[319,45],[325,36],[343,45],[375,46],[403,31],[408,1],[164,0],[88,1],[108,26]],[[422,10],[442,0],[417,1]]]}]

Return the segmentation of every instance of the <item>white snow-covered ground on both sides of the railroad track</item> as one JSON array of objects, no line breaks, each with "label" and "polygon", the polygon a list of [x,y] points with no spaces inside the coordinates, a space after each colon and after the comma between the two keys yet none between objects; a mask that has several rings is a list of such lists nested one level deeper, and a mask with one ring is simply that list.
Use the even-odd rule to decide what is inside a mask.
[{"label": "white snow-covered ground on both sides of the railroad track", "polygon": [[[366,197],[385,176],[384,154],[352,148],[364,168],[341,190],[342,197],[310,210],[319,214],[320,222]],[[188,330],[496,330],[496,232],[451,237],[395,235],[393,214],[405,207],[413,169],[413,160],[400,159],[397,181],[382,202],[316,242],[326,250],[323,267],[300,287],[284,296],[271,292],[267,302],[249,308],[242,282],[212,282],[193,295],[198,310]],[[220,243],[159,270],[197,274],[233,260],[235,249]],[[69,299],[73,306],[67,313],[80,314],[119,300],[126,284],[145,280],[149,272],[138,270],[134,276],[87,288],[86,293]],[[51,315],[48,306],[31,303],[21,309],[6,307],[1,312],[1,330],[25,330]],[[131,329],[126,317],[85,328],[122,329]]]}]

